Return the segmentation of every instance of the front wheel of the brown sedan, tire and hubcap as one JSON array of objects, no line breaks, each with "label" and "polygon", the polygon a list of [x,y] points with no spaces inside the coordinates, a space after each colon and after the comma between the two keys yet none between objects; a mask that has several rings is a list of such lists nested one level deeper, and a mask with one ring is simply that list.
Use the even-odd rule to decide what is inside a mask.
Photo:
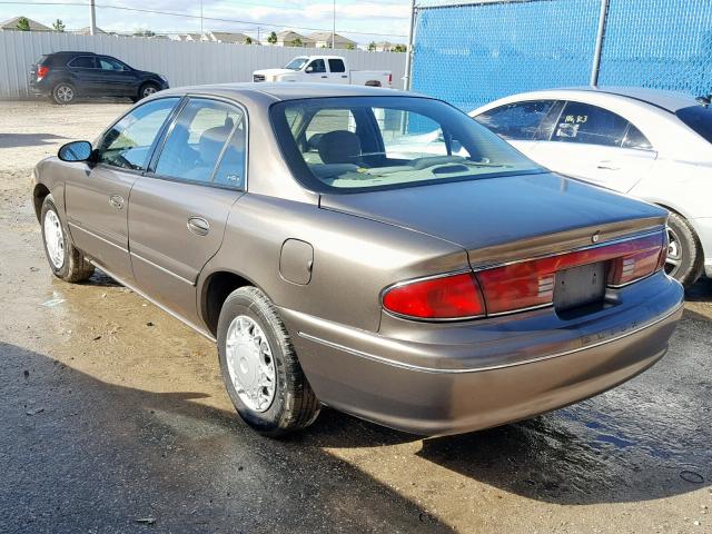
[{"label": "front wheel of the brown sedan, tire and hubcap", "polygon": [[75,248],[68,238],[67,229],[59,217],[51,195],[44,197],[40,221],[44,254],[52,274],[69,283],[83,281],[89,278],[93,274],[93,265],[87,261],[83,254]]}]

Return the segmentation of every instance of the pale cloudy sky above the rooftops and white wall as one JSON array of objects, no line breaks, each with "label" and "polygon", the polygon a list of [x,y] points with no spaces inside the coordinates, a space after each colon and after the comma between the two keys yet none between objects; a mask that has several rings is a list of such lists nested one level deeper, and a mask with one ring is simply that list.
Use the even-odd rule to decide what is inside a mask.
[{"label": "pale cloudy sky above the rooftops and white wall", "polygon": [[[3,3],[0,0],[0,20],[22,14],[47,26],[59,18],[68,30],[89,26],[87,0],[48,2],[57,4],[42,6],[39,0],[27,0],[22,4]],[[200,31],[200,0],[96,0],[96,4],[97,26],[107,31]],[[408,0],[336,0],[336,31],[360,43],[372,40],[406,42],[409,4]],[[195,18],[110,9],[109,6],[167,11]],[[332,11],[332,0],[202,0],[202,26],[206,31],[224,30],[256,34],[259,24],[263,36],[265,32],[284,28],[309,33],[313,29],[330,30]]]}]

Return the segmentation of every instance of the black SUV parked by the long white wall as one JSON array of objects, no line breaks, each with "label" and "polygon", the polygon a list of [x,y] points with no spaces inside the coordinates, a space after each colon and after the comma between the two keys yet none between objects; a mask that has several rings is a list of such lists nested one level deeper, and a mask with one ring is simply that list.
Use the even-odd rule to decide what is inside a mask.
[{"label": "black SUV parked by the long white wall", "polygon": [[161,75],[93,52],[48,53],[30,71],[30,90],[57,103],[77,97],[129,97],[136,102],[162,89],[168,89],[168,80]]}]

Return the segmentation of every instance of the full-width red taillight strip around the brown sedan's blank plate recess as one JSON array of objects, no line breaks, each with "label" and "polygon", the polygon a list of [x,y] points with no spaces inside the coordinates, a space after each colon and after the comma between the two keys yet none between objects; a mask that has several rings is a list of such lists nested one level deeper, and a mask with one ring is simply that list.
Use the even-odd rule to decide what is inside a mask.
[{"label": "full-width red taillight strip around the brown sedan's blank plate recess", "polygon": [[465,319],[550,306],[556,273],[607,263],[610,287],[645,278],[665,264],[668,234],[660,231],[571,253],[397,284],[384,291],[383,306],[417,319]]}]

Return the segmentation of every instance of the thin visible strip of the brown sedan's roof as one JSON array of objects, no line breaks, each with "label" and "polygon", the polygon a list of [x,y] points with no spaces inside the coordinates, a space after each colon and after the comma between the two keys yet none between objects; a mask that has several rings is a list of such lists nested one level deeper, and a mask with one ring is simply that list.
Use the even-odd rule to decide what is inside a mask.
[{"label": "thin visible strip of the brown sedan's roof", "polygon": [[161,91],[167,93],[191,95],[221,95],[226,97],[259,97],[268,96],[274,100],[297,100],[303,98],[329,98],[329,97],[422,97],[412,92],[383,89],[379,87],[346,86],[339,83],[210,83],[206,86],[181,87]]}]

